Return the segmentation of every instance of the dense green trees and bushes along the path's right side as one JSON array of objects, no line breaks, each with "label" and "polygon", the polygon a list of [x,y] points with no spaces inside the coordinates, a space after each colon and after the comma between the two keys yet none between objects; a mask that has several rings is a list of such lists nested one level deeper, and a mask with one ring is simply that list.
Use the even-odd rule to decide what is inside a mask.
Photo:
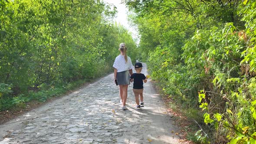
[{"label": "dense green trees and bushes along the path's right side", "polygon": [[124,2],[136,13],[140,58],[152,79],[176,102],[203,111],[197,142],[255,144],[256,1]]}]

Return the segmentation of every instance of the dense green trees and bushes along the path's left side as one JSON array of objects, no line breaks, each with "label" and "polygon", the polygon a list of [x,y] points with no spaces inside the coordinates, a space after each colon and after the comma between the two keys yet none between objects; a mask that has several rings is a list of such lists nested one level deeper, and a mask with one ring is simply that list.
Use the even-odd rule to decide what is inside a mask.
[{"label": "dense green trees and bushes along the path's left side", "polygon": [[[100,0],[0,1],[0,111],[46,99],[112,71],[131,34]],[[32,91],[32,92],[31,92]]]}]

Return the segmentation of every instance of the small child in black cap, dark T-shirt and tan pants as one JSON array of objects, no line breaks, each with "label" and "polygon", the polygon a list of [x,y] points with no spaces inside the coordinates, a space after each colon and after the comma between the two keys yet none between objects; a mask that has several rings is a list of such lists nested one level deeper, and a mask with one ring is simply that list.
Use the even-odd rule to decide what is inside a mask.
[{"label": "small child in black cap, dark T-shirt and tan pants", "polygon": [[[142,63],[136,62],[135,65],[136,73],[133,73],[131,75],[131,79],[133,79],[133,92],[135,95],[135,101],[136,101],[136,109],[141,109],[141,107],[144,107],[143,102],[143,82],[147,82],[148,78],[145,77],[144,74],[141,73],[142,70]],[[141,97],[141,105],[139,103],[139,95]]]}]

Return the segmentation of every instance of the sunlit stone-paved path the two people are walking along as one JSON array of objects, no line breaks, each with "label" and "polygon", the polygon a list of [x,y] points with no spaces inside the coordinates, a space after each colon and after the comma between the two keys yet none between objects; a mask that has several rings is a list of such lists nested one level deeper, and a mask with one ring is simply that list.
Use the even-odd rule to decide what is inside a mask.
[{"label": "sunlit stone-paved path the two people are walking along", "polygon": [[0,144],[179,144],[171,133],[177,128],[150,80],[144,84],[145,107],[135,109],[131,84],[124,111],[113,77],[0,125]]}]

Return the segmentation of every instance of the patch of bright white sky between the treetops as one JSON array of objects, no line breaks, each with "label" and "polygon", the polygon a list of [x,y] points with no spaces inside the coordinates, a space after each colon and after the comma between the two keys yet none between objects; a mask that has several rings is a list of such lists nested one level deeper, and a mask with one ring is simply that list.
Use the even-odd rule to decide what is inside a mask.
[{"label": "patch of bright white sky between the treetops", "polygon": [[131,27],[128,23],[128,16],[127,16],[128,8],[125,7],[125,4],[121,3],[121,0],[103,0],[103,1],[105,3],[111,3],[115,5],[115,7],[117,8],[118,13],[114,19],[114,23],[116,21],[117,23],[120,23],[121,25],[125,26],[126,29],[128,29],[128,31],[132,33],[133,39],[138,39],[139,37],[138,37],[137,30]]}]

